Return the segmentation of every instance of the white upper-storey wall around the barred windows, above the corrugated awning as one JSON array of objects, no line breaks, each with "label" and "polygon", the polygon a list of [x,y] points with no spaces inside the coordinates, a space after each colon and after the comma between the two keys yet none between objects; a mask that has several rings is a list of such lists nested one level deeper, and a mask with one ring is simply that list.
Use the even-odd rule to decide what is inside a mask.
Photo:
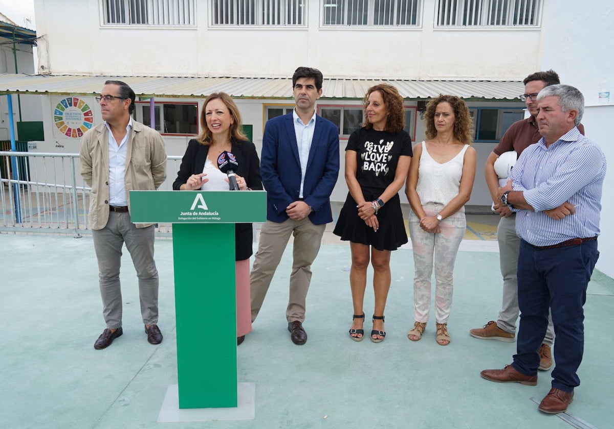
[{"label": "white upper-storey wall around the barred windows, above the corrugated awning", "polygon": [[435,29],[436,0],[418,29],[320,28],[320,3],[308,2],[308,28],[233,29],[209,28],[200,0],[197,28],[165,29],[101,26],[99,0],[36,0],[39,71],[287,76],[306,64],[328,77],[517,80],[539,66],[539,28]]}]

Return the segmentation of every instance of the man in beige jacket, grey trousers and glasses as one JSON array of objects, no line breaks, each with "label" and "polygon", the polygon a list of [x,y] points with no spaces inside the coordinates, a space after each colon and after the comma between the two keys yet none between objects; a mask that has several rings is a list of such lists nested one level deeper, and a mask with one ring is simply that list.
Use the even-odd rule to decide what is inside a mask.
[{"label": "man in beige jacket, grey trousers and glasses", "polygon": [[157,189],[166,178],[165,143],[161,135],[134,121],[134,91],[126,83],[107,80],[100,104],[104,123],[81,140],[81,175],[91,186],[90,228],[98,259],[100,295],[106,329],[94,348],[104,349],[122,335],[120,259],[123,243],[139,279],[141,314],[147,341],[160,344],[158,270],[153,260],[153,225],[130,219],[130,193]]}]

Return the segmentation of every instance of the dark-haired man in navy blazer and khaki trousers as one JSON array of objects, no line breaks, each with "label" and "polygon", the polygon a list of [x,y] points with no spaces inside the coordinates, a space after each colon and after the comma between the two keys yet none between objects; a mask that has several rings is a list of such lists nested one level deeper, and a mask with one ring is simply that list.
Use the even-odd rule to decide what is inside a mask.
[{"label": "dark-haired man in navy blazer and khaki trousers", "polygon": [[266,123],[260,173],[266,189],[266,222],[250,276],[252,322],[290,234],[294,236],[290,297],[286,319],[290,338],[305,344],[305,301],[311,264],[320,249],[324,228],[333,221],[330,194],[339,173],[339,129],[316,115],[322,95],[322,72],[298,67],[292,76],[296,107]]}]

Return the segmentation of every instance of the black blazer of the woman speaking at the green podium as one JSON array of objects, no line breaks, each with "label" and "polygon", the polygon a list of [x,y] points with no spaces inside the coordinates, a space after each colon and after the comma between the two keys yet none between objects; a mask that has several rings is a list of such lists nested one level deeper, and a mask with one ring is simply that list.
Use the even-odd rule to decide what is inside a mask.
[{"label": "black blazer of the woman speaking at the green podium", "polygon": [[[231,152],[239,163],[236,173],[245,178],[247,188],[263,189],[262,178],[260,177],[260,159],[254,143],[233,140]],[[173,182],[175,191],[178,191],[179,187],[186,183],[191,175],[203,172],[208,153],[209,146],[202,145],[195,139],[190,140],[184,158],[181,160],[177,178]],[[235,260],[244,260],[252,256],[253,235],[252,224],[235,224]]]}]

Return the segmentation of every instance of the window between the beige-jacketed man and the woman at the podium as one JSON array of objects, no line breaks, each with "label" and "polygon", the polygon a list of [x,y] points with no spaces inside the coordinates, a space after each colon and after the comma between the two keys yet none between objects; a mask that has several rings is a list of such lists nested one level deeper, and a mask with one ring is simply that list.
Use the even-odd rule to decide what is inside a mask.
[{"label": "window between the beige-jacketed man and the woman at the podium", "polygon": [[[153,114],[155,129],[160,134],[198,134],[198,103],[154,102]],[[136,102],[133,116],[140,123],[150,127],[150,103]]]}]

